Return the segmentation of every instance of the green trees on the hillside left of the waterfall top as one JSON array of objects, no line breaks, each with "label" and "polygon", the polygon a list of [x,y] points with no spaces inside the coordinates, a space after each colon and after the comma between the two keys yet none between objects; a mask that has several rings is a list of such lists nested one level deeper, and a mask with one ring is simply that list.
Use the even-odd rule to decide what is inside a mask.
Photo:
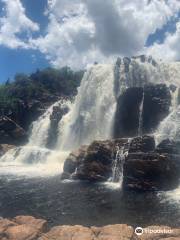
[{"label": "green trees on the hillside left of the waterfall top", "polygon": [[44,96],[74,96],[84,71],[73,71],[69,67],[46,68],[31,75],[16,74],[14,81],[0,85],[0,110],[16,110],[19,102],[42,100]]}]

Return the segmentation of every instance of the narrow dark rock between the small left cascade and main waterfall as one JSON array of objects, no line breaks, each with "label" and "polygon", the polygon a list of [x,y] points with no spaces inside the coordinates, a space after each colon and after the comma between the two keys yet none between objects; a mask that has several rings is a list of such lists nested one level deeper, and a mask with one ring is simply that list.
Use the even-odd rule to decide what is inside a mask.
[{"label": "narrow dark rock between the small left cascade and main waterfall", "polygon": [[51,126],[50,126],[50,131],[47,139],[48,148],[53,148],[55,146],[57,142],[57,137],[58,137],[58,124],[62,119],[62,117],[66,113],[68,113],[68,111],[69,111],[69,108],[67,106],[64,106],[63,104],[53,107],[53,112],[52,112],[52,115],[50,116]]}]

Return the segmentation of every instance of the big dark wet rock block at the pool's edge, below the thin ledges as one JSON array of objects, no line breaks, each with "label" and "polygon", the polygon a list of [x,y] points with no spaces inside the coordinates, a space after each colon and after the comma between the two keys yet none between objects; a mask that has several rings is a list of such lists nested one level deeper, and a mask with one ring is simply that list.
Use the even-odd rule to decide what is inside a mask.
[{"label": "big dark wet rock block at the pool's edge, below the thin ledges", "polygon": [[174,189],[179,184],[179,170],[172,155],[129,153],[124,163],[123,187],[142,191]]}]

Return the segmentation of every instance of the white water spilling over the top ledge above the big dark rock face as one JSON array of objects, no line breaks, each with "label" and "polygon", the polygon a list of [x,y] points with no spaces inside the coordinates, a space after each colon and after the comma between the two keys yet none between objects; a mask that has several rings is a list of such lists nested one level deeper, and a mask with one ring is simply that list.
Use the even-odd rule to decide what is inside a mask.
[{"label": "white water spilling over the top ledge above the big dark rock face", "polygon": [[143,87],[147,83],[180,86],[180,62],[164,63],[157,61],[156,65],[153,65],[152,59],[149,57],[146,57],[145,62],[142,62],[140,58],[131,58],[130,61],[129,70],[126,69],[127,64],[123,61],[121,61],[119,68],[118,76],[120,86],[123,86],[123,88]]}]

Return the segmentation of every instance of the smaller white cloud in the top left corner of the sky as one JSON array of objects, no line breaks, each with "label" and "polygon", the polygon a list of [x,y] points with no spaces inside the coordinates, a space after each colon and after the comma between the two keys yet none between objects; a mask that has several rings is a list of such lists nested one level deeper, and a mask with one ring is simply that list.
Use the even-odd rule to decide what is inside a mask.
[{"label": "smaller white cloud in the top left corner of the sky", "polygon": [[[10,48],[29,48],[30,33],[38,31],[37,23],[25,14],[25,8],[19,0],[2,0],[5,4],[5,16],[0,18],[0,44]],[[25,37],[18,37],[25,34]],[[25,39],[26,38],[26,39]]]}]

